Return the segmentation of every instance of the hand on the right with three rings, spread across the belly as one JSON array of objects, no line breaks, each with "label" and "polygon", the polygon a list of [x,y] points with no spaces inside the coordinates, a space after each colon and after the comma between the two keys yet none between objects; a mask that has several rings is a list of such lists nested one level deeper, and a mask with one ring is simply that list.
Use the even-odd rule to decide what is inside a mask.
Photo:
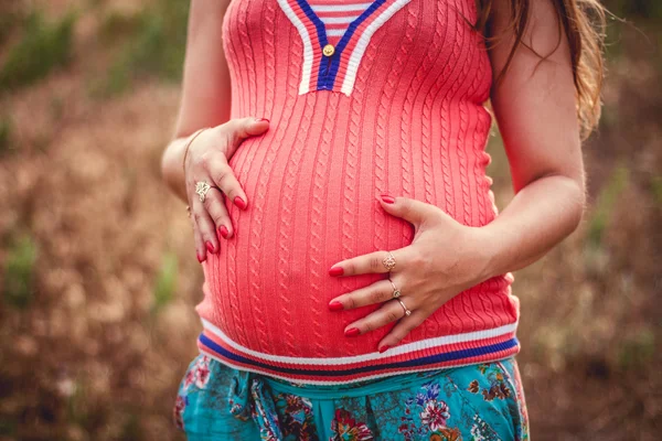
[{"label": "hand on the right with three rings, spread across the belly", "polygon": [[[389,202],[392,201],[392,202]],[[412,311],[405,315],[393,298],[388,278],[342,294],[329,302],[332,311],[350,310],[374,303],[382,308],[349,324],[346,336],[356,336],[398,321],[380,342],[380,352],[398,344],[413,329],[458,293],[488,279],[489,240],[484,229],[458,223],[441,208],[409,197],[382,195],[382,207],[415,228],[410,245],[392,250],[395,267],[391,280],[401,291],[399,300]],[[331,267],[331,276],[388,272],[383,263],[385,250],[342,260]]]}]

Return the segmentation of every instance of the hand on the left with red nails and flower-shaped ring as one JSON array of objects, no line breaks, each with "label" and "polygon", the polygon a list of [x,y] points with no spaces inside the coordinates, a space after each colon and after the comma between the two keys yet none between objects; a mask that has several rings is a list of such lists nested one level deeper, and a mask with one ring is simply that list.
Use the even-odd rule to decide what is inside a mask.
[{"label": "hand on the left with red nails and flower-shaped ring", "polygon": [[[221,237],[228,238],[234,234],[223,197],[228,197],[241,209],[248,206],[246,193],[228,164],[229,159],[244,139],[261,135],[268,128],[268,119],[235,118],[202,131],[189,146],[184,158],[184,179],[195,255],[200,262],[206,259],[207,251],[221,251]],[[195,184],[200,181],[211,185],[204,203],[195,193]]]}]

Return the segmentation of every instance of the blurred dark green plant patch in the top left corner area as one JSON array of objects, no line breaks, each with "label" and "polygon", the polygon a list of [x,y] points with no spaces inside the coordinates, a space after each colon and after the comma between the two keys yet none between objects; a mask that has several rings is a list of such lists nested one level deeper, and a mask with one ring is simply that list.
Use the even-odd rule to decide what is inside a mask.
[{"label": "blurred dark green plant patch in the top left corner area", "polygon": [[73,13],[54,23],[32,13],[22,39],[10,49],[0,69],[0,90],[26,86],[65,65],[72,55],[75,21]]}]

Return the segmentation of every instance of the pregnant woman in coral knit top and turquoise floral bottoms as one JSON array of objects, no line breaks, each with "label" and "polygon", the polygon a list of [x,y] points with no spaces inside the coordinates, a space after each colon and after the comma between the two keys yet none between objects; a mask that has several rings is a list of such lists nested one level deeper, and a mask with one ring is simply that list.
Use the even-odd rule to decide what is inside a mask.
[{"label": "pregnant woman in coral knit top and turquoise floral bottoms", "polygon": [[528,439],[511,271],[581,218],[602,72],[578,4],[601,21],[588,0],[192,1],[162,159],[204,271],[190,440]]}]

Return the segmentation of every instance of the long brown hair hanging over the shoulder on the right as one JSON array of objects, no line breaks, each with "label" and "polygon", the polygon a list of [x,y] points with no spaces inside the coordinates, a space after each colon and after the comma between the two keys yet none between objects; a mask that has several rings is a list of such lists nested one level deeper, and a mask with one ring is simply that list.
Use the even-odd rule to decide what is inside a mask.
[{"label": "long brown hair hanging over the shoulder on the right", "polygon": [[[519,44],[524,44],[522,37],[528,23],[528,13],[532,1],[540,0],[509,0],[510,24],[508,32],[514,33],[515,42],[508,57],[505,67],[496,80],[501,80],[515,54]],[[546,0],[552,1],[559,23],[568,39],[575,90],[577,96],[577,117],[581,126],[583,137],[590,135],[597,126],[601,110],[601,89],[605,75],[604,41],[606,10],[598,0]],[[479,8],[476,28],[481,31],[488,43],[496,41],[501,35],[492,35],[490,18],[492,0],[477,0]],[[562,32],[559,41],[560,44]],[[549,54],[538,54],[541,60]]]}]

